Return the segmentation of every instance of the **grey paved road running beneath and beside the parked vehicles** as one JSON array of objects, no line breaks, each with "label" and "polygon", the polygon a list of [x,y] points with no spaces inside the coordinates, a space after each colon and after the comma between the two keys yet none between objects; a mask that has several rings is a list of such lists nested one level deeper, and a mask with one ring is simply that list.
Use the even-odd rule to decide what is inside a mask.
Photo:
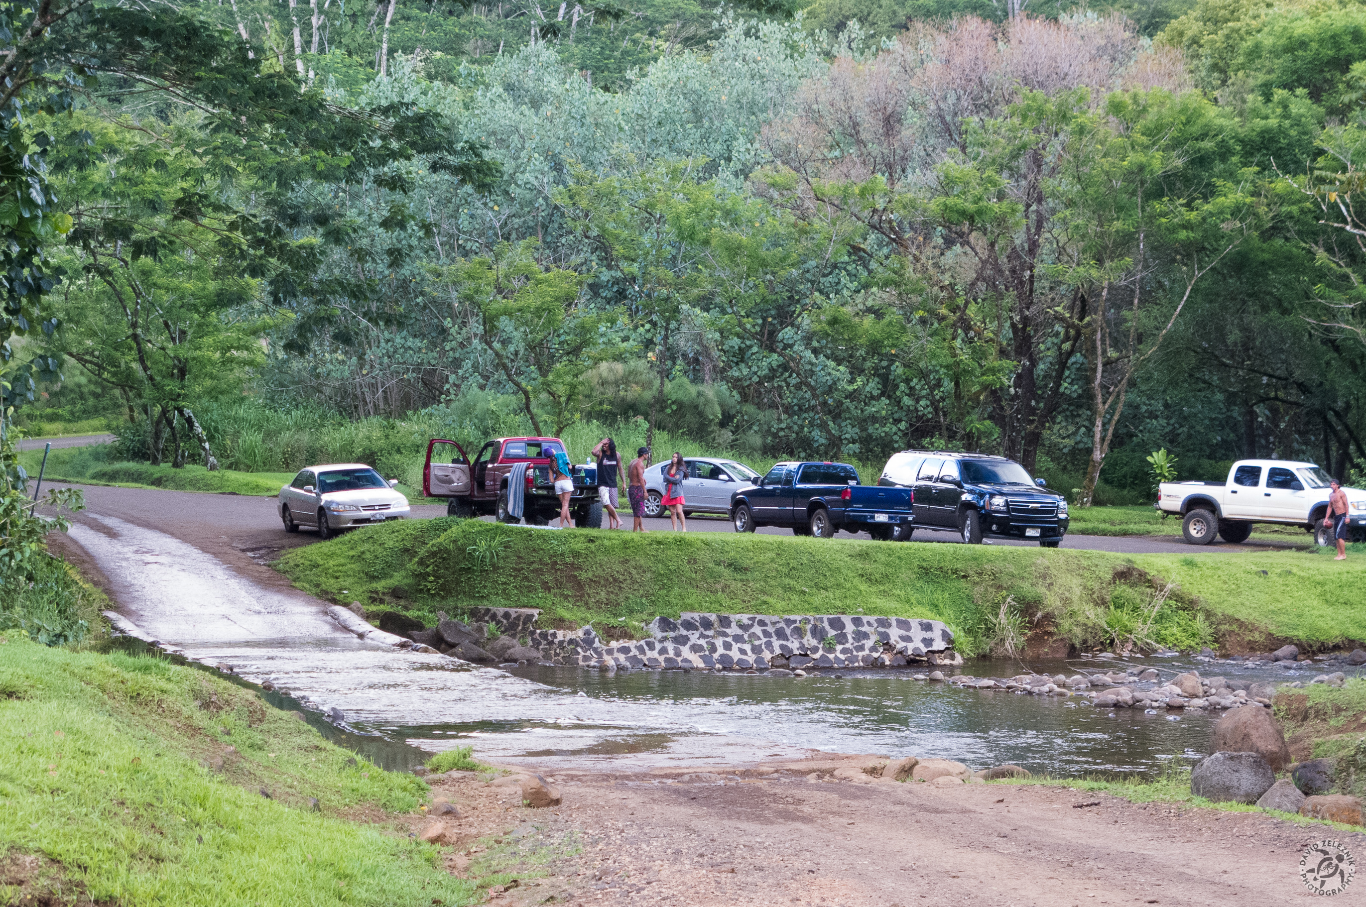
[{"label": "grey paved road running beneath and beside the parked vehicles", "polygon": [[[270,560],[276,552],[317,541],[317,534],[303,530],[287,534],[280,525],[276,499],[239,494],[204,494],[199,492],[169,492],[157,489],[105,488],[101,485],[76,485],[85,492],[89,515],[113,516],[116,519],[168,533],[197,548],[229,560],[257,564]],[[438,505],[415,505],[417,518],[445,515]],[[492,518],[485,518],[492,519]],[[624,525],[630,527],[627,518]],[[649,531],[672,531],[667,519],[646,519]],[[729,520],[709,516],[690,516],[688,531],[731,533]],[[791,535],[790,529],[766,526],[758,530],[764,535]],[[839,533],[833,541],[867,538]],[[962,544],[958,533],[917,530],[915,541],[936,544]],[[888,542],[891,544],[891,542]],[[992,541],[993,545],[1014,545],[1037,548],[1037,544],[1023,541]],[[1182,553],[1199,555],[1209,552],[1265,552],[1290,550],[1292,542],[1244,542],[1228,545],[1223,541],[1213,545],[1187,545],[1179,537],[1154,535],[1070,535],[1063,540],[1063,548],[1083,550],[1108,550],[1124,555]],[[266,571],[273,572],[273,571]],[[262,576],[264,581],[264,576]]]}]

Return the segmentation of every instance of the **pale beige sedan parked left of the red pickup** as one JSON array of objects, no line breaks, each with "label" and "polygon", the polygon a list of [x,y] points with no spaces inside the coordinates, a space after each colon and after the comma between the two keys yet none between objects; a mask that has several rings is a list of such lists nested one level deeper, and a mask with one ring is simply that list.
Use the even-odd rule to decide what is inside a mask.
[{"label": "pale beige sedan parked left of the red pickup", "polygon": [[322,538],[332,538],[343,529],[403,519],[408,515],[408,499],[393,490],[395,485],[398,479],[385,482],[365,463],[302,469],[280,488],[284,531],[309,526]]}]

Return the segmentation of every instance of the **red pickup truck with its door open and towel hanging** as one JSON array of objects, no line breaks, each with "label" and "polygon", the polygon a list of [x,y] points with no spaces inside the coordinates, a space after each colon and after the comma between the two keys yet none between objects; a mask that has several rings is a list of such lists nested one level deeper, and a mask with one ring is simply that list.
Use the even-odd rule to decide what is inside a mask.
[{"label": "red pickup truck with its door open and towel hanging", "polygon": [[[518,463],[526,463],[523,514],[529,525],[545,526],[560,515],[560,501],[550,481],[550,462],[560,451],[566,447],[557,437],[500,437],[479,448],[471,463],[458,441],[432,438],[422,466],[422,493],[447,499],[448,516],[492,515],[500,523],[515,523],[518,520],[508,515],[508,474]],[[570,514],[575,525],[602,529],[597,467],[574,466],[571,473]]]}]

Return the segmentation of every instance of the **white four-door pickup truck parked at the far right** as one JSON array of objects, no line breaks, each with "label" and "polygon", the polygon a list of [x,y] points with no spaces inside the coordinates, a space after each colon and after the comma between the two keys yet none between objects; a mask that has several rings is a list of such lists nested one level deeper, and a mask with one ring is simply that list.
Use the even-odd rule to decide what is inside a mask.
[{"label": "white four-door pickup truck parked at the far right", "polygon": [[[1225,482],[1162,482],[1157,503],[1167,514],[1179,514],[1182,534],[1191,545],[1209,545],[1214,535],[1225,542],[1244,541],[1253,523],[1300,526],[1314,533],[1320,545],[1332,545],[1328,512],[1328,473],[1296,460],[1238,460]],[[1347,492],[1348,531],[1354,541],[1366,537],[1366,492]]]}]

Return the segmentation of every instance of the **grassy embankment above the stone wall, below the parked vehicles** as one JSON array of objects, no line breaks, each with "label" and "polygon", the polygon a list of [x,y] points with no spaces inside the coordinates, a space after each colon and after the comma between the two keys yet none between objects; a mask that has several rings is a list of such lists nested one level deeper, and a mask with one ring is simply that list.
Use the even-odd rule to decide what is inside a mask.
[{"label": "grassy embankment above the stone wall, below the parked vehicles", "polygon": [[[680,611],[934,617],[964,654],[1026,638],[1082,649],[1161,643],[1328,647],[1366,639],[1366,559],[1309,552],[1106,552],[825,541],[721,533],[549,531],[478,520],[367,527],[277,567],[335,601],[436,611],[541,608],[542,623],[642,632]],[[1153,613],[1156,594],[1177,583]],[[1152,613],[1152,617],[1149,615]]]}]

